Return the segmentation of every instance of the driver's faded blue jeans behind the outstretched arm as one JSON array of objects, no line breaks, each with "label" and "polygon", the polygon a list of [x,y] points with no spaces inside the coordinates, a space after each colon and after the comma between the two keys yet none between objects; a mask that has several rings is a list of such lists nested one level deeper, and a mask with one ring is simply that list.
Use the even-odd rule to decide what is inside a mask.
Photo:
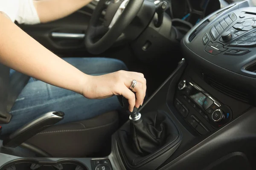
[{"label": "driver's faded blue jeans behind the outstretched arm", "polygon": [[[65,61],[90,75],[107,74],[127,70],[117,59],[107,58],[65,58]],[[86,120],[108,111],[119,110],[116,96],[108,99],[86,99],[80,94],[45,82],[29,79],[11,109],[9,124],[1,125],[2,133],[9,134],[29,121],[49,111],[63,111],[64,119],[59,124]]]}]

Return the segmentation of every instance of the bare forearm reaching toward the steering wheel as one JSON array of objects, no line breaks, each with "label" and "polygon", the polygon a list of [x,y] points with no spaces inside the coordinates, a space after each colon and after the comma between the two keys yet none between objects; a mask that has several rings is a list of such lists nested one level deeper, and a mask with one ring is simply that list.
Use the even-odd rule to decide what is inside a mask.
[{"label": "bare forearm reaching toward the steering wheel", "polygon": [[79,10],[92,0],[34,0],[41,23],[57,20]]}]

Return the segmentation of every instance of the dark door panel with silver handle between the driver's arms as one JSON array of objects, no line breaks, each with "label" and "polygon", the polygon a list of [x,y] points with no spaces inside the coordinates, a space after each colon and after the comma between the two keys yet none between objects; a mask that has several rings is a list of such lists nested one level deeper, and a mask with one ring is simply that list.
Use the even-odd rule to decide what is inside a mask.
[{"label": "dark door panel with silver handle between the driver's arms", "polygon": [[50,23],[37,25],[18,25],[35,40],[60,57],[86,55],[85,32],[96,6],[96,1],[79,11]]}]

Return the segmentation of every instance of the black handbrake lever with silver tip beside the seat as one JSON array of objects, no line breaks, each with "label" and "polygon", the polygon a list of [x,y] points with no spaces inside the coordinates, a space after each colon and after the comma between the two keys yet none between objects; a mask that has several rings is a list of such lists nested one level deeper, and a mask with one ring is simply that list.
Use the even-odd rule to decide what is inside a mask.
[{"label": "black handbrake lever with silver tip beside the seat", "polygon": [[20,127],[14,133],[3,140],[4,147],[17,147],[23,142],[35,136],[37,133],[46,129],[49,126],[54,125],[64,119],[64,113],[58,112],[48,112],[44,115],[32,120],[23,127]]}]

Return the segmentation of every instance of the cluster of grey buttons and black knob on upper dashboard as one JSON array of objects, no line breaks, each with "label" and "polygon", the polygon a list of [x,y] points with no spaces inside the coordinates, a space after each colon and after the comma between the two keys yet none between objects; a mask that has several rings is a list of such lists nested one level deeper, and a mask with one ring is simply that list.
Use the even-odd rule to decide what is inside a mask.
[{"label": "cluster of grey buttons and black knob on upper dashboard", "polygon": [[[202,37],[204,45],[207,45],[205,51],[212,55],[218,55],[230,47],[255,47],[256,30],[254,30],[254,28],[256,28],[256,15],[255,17],[251,18],[247,17],[247,15],[240,15],[237,17],[234,13],[228,14],[227,16],[221,18],[221,20],[219,20],[218,23],[211,28],[210,33],[213,41],[209,41],[207,45],[208,41],[206,42],[206,40],[209,40],[209,38],[206,38],[207,33]],[[251,30],[253,30],[253,32],[246,34]],[[220,38],[218,39],[218,37]],[[248,52],[250,51],[229,51],[225,52],[224,54],[244,55]]]}]

